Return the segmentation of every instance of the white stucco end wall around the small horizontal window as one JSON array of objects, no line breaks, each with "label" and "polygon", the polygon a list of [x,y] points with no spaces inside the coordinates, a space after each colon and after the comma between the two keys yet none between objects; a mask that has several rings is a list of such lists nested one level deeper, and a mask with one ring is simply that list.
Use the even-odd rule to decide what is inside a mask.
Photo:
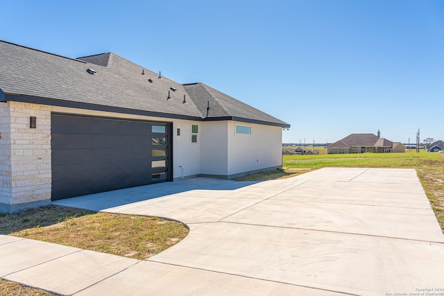
[{"label": "white stucco end wall around the small horizontal window", "polygon": [[[251,134],[236,134],[236,125],[251,127]],[[228,122],[228,175],[282,166],[282,128]]]}]

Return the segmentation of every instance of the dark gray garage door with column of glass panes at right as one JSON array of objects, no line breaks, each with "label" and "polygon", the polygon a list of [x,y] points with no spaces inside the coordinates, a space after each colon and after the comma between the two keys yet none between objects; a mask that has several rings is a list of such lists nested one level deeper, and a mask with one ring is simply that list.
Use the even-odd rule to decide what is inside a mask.
[{"label": "dark gray garage door with column of glass panes at right", "polygon": [[52,200],[172,180],[171,123],[51,114]]}]

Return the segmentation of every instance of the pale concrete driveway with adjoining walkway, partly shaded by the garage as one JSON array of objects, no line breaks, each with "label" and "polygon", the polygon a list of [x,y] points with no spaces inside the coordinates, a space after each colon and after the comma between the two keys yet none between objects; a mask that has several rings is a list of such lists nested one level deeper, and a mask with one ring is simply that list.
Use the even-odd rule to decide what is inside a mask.
[{"label": "pale concrete driveway with adjoining walkway, partly shaded by the garage", "polygon": [[173,218],[190,232],[146,261],[0,236],[3,279],[63,295],[444,289],[444,236],[411,169],[323,168],[256,183],[195,178],[54,204]]}]

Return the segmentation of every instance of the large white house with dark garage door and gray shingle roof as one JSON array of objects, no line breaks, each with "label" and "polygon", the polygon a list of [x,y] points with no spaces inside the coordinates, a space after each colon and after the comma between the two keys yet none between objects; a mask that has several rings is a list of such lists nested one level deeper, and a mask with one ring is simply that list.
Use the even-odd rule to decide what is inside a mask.
[{"label": "large white house with dark garage door and gray shingle roof", "polygon": [[[115,55],[0,41],[0,211],[184,177],[282,166],[290,125]],[[254,148],[254,149],[253,149]]]}]

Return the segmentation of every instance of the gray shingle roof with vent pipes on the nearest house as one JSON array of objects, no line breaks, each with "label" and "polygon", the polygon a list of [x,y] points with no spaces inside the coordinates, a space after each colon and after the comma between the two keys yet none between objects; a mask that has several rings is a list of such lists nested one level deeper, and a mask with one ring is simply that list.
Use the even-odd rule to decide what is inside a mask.
[{"label": "gray shingle roof with vent pipes on the nearest house", "polygon": [[[87,69],[94,69],[96,75]],[[51,105],[78,103],[83,107],[106,106],[170,118],[225,118],[289,127],[203,83],[181,85],[159,77],[159,73],[114,53],[72,59],[0,40],[0,93],[6,94],[6,101],[19,100],[18,97],[27,97],[28,101],[44,98]],[[184,95],[187,104],[182,103]],[[171,99],[167,100],[167,96]]]}]

